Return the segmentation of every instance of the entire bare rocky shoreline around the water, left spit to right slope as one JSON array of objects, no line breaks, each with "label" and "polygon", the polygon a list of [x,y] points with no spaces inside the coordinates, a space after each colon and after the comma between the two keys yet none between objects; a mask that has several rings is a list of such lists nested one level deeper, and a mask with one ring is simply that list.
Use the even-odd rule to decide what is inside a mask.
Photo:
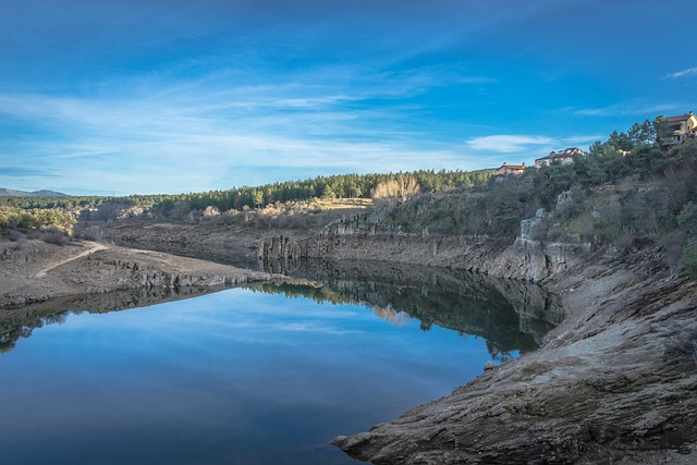
[{"label": "entire bare rocky shoreline around the water, left spit to right slope", "polygon": [[[40,285],[15,285],[11,292],[12,280],[3,279],[0,306],[20,305],[21,296],[40,301],[57,295],[51,286],[60,295],[273,278],[163,254],[182,250],[277,262],[279,270],[316,257],[535,281],[561,299],[565,313],[540,350],[487,370],[392,423],[337,438],[334,444],[376,464],[688,464],[697,453],[697,283],[672,274],[656,250],[591,254],[583,244],[541,244],[525,235],[514,243],[409,235],[379,231],[367,218],[350,218],[318,234],[122,224],[101,235],[103,244],[139,250],[110,245],[48,271]],[[29,258],[16,262],[16,270],[25,270],[17,282],[34,280],[40,266]]]}]

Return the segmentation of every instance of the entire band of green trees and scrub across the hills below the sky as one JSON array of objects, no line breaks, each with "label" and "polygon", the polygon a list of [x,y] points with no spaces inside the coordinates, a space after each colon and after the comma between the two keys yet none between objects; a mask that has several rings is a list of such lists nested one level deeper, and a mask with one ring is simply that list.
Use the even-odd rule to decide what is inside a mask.
[{"label": "entire band of green trees and scrub across the hills below the sky", "polygon": [[[382,227],[418,234],[487,235],[594,247],[659,244],[675,269],[697,273],[697,142],[669,151],[665,121],[636,123],[597,142],[573,164],[523,175],[493,170],[345,174],[180,195],[0,197],[0,233],[69,230],[75,218],[142,216],[253,228],[320,228],[378,208]],[[125,212],[125,213],[124,213]]]}]

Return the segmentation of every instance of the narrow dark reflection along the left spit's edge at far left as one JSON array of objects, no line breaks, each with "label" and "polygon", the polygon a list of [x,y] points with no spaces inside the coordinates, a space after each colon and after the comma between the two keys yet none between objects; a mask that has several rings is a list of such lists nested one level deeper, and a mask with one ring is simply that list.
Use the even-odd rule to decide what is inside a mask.
[{"label": "narrow dark reflection along the left spit's edge at far left", "polygon": [[196,297],[215,292],[215,287],[154,287],[142,291],[117,291],[54,298],[40,304],[0,311],[0,353],[12,351],[20,339],[47,325],[62,325],[71,315],[83,311],[103,314],[146,307],[163,302]]}]

